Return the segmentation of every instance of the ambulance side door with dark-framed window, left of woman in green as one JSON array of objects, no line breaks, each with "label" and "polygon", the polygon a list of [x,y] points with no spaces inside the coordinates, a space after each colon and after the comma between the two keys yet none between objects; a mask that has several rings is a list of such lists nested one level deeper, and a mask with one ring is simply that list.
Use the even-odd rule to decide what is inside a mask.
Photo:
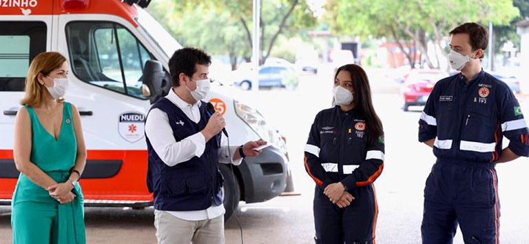
[{"label": "ambulance side door with dark-framed window, left of woman in green", "polygon": [[0,204],[8,203],[1,199],[11,198],[19,176],[13,160],[14,119],[21,108],[25,77],[33,58],[49,50],[52,33],[51,6],[10,8],[10,4],[0,8]]}]

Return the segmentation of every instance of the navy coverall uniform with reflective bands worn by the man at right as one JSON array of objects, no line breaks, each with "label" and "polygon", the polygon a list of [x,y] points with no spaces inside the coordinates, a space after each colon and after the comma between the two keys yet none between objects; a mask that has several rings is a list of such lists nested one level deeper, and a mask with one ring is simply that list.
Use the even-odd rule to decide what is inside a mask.
[{"label": "navy coverall uniform with reflective bands worn by the man at right", "polygon": [[419,141],[435,139],[437,157],[424,188],[423,243],[452,243],[457,225],[465,243],[498,243],[495,162],[502,140],[529,156],[528,128],[506,83],[481,70],[466,82],[437,82],[419,120]]}]

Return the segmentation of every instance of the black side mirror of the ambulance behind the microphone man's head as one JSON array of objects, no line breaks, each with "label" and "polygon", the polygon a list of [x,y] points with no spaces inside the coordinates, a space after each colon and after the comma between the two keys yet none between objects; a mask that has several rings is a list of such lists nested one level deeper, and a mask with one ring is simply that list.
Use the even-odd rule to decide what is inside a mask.
[{"label": "black side mirror of the ambulance behind the microphone man's head", "polygon": [[143,95],[155,103],[160,97],[165,96],[171,89],[169,74],[163,70],[162,63],[148,60],[143,68]]}]

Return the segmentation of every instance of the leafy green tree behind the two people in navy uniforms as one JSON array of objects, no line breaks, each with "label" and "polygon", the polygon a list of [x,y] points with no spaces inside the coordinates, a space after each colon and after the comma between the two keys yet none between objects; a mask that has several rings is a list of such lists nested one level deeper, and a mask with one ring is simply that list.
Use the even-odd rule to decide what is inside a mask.
[{"label": "leafy green tree behind the two people in navy uniforms", "polygon": [[[451,28],[468,21],[504,24],[519,14],[512,0],[330,0],[327,3],[333,30],[413,43],[431,68],[435,66],[428,55],[428,41],[435,43],[435,53],[439,54]],[[440,53],[446,55],[446,52]],[[413,63],[413,57],[410,54],[407,57]],[[435,58],[439,60],[437,55]],[[439,67],[439,62],[436,66]]]}]

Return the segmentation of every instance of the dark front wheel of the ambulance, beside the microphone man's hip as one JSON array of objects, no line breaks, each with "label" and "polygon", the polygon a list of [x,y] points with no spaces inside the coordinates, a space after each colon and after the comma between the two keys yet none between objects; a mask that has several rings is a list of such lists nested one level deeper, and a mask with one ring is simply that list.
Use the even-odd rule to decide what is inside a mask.
[{"label": "dark front wheel of the ambulance, beside the microphone man's hip", "polygon": [[219,165],[220,172],[224,176],[224,221],[228,221],[231,214],[237,210],[240,201],[240,187],[237,177],[231,172],[229,165]]}]

